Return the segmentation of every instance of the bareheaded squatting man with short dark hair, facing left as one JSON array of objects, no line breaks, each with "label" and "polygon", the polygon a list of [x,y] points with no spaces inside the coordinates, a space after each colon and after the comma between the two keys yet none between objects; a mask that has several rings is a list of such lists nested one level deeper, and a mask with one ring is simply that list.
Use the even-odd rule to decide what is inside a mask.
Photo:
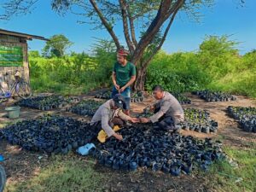
[{"label": "bareheaded squatting man with short dark hair, facing left", "polygon": [[172,96],[171,93],[166,92],[160,85],[153,88],[153,95],[159,102],[150,106],[154,110],[154,115],[149,118],[141,118],[142,123],[156,123],[156,127],[166,131],[178,131],[178,124],[184,120],[183,108]]}]

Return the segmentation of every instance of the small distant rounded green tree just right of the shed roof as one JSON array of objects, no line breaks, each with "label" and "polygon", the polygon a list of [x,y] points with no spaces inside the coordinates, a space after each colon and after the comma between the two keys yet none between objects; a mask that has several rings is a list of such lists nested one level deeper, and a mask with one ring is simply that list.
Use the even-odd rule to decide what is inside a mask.
[{"label": "small distant rounded green tree just right of the shed roof", "polygon": [[42,55],[44,57],[61,57],[72,44],[64,35],[54,35],[46,42]]}]

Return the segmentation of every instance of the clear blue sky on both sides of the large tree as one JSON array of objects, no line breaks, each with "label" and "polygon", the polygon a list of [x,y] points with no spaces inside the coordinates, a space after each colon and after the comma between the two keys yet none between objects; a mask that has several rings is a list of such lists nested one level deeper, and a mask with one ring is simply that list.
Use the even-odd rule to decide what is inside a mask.
[{"label": "clear blue sky on both sides of the large tree", "polygon": [[[206,35],[232,35],[231,40],[241,42],[238,49],[244,54],[256,49],[256,0],[246,0],[244,7],[239,7],[238,0],[217,0],[211,9],[202,9],[200,23],[178,15],[173,22],[162,49],[168,53],[177,51],[194,51]],[[1,10],[1,9],[0,9]],[[2,11],[2,10],[1,10]],[[67,14],[62,17],[50,9],[49,1],[39,1],[30,15],[13,17],[9,21],[0,21],[0,28],[25,32],[49,38],[55,34],[64,34],[74,44],[69,51],[89,52],[95,38],[109,38],[105,30],[91,30],[93,26],[77,23],[77,15]],[[122,27],[115,31],[121,42],[125,42]],[[28,42],[30,50],[41,50],[44,42]]]}]

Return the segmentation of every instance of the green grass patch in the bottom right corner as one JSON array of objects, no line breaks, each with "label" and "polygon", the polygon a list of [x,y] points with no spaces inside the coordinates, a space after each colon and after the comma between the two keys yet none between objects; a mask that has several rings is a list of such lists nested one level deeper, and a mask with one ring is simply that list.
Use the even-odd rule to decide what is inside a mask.
[{"label": "green grass patch in the bottom right corner", "polygon": [[256,144],[249,148],[224,147],[224,152],[238,164],[230,166],[228,161],[215,163],[206,173],[211,189],[220,192],[256,191]]}]

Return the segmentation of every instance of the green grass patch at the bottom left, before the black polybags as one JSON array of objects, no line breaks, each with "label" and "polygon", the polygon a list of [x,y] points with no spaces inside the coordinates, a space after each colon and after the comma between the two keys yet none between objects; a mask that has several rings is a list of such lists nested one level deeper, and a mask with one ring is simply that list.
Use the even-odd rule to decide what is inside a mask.
[{"label": "green grass patch at the bottom left, before the black polybags", "polygon": [[104,177],[95,172],[93,164],[76,156],[56,155],[36,177],[21,183],[8,184],[4,192],[82,192],[102,191]]}]

